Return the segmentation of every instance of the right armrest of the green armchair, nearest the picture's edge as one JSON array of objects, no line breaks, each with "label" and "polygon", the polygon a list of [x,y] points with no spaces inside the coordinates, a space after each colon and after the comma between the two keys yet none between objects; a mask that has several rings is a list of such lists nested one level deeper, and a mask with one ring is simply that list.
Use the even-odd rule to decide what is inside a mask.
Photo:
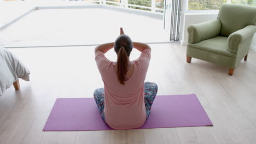
[{"label": "right armrest of the green armchair, nearest the picture's edge", "polygon": [[246,26],[243,29],[231,33],[228,37],[228,51],[236,54],[239,44],[251,37],[254,33],[256,33],[256,26],[253,25]]}]

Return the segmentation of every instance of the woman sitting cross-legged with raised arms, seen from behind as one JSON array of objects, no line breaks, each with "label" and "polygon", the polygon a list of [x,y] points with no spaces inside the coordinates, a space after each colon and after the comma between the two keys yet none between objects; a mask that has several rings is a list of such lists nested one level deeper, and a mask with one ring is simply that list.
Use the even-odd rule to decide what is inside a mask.
[{"label": "woman sitting cross-legged with raised arms, seen from behind", "polygon": [[[114,47],[117,62],[104,56]],[[130,61],[133,49],[141,51],[141,56]],[[113,129],[133,129],[141,127],[149,117],[150,109],[158,92],[154,82],[145,82],[151,49],[147,44],[132,42],[120,28],[120,35],[114,43],[95,48],[95,60],[100,71],[104,88],[94,92],[94,99],[101,117]]]}]

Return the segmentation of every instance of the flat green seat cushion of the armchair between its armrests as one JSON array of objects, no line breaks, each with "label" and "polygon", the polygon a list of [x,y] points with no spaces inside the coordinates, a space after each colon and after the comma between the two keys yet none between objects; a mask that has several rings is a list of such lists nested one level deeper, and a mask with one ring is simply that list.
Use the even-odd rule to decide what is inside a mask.
[{"label": "flat green seat cushion of the armchair between its armrests", "polygon": [[228,37],[214,37],[200,41],[196,44],[188,44],[189,47],[203,51],[218,53],[219,55],[236,57],[234,53],[228,51]]}]

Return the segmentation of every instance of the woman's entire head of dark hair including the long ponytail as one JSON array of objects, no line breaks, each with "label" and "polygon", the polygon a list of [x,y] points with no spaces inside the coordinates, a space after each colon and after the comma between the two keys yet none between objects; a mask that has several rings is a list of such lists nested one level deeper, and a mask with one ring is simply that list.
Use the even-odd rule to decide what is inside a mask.
[{"label": "woman's entire head of dark hair including the long ponytail", "polygon": [[115,40],[114,50],[118,55],[117,75],[119,82],[124,85],[125,76],[129,65],[129,56],[133,48],[132,41],[128,35],[119,35]]}]

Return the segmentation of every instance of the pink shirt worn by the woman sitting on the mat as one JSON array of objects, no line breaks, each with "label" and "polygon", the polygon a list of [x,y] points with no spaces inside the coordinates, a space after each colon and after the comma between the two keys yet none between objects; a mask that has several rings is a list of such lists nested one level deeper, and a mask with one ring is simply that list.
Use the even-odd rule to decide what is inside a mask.
[{"label": "pink shirt worn by the woman sitting on the mat", "polygon": [[150,49],[142,51],[133,61],[132,76],[121,85],[114,71],[115,62],[109,61],[104,53],[97,51],[95,60],[104,82],[105,121],[113,129],[133,129],[141,127],[147,114],[144,104],[144,80],[150,61]]}]

